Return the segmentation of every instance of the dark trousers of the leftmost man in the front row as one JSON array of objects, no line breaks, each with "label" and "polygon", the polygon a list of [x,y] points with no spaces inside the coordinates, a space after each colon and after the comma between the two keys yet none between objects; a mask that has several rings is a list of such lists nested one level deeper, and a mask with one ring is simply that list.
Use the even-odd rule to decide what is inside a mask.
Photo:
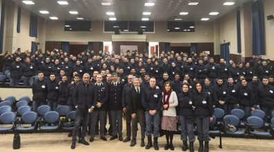
[{"label": "dark trousers of the leftmost man in the front row", "polygon": [[76,143],[76,137],[78,135],[80,122],[83,120],[83,129],[80,135],[80,139],[85,140],[85,133],[87,133],[87,120],[89,118],[88,109],[76,109],[76,119],[74,121],[74,131],[72,131],[72,143]]}]

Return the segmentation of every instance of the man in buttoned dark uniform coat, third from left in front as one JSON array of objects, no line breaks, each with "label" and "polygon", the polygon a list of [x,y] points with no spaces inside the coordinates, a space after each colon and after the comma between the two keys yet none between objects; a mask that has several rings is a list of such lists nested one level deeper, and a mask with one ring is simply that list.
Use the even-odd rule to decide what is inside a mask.
[{"label": "man in buttoned dark uniform coat, third from left in front", "polygon": [[[123,83],[118,81],[117,73],[112,73],[112,82],[108,84],[110,89],[110,99],[108,100],[110,106],[110,115],[112,120],[113,135],[110,140],[115,140],[119,136],[122,141],[122,123],[123,123],[123,106],[122,106],[122,93]],[[118,135],[117,135],[118,134]]]}]

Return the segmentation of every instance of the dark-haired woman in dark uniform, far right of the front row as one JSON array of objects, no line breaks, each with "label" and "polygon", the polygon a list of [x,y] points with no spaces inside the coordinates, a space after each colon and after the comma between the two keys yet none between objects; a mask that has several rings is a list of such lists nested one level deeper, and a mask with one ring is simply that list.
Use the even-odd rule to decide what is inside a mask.
[{"label": "dark-haired woman in dark uniform, far right of the front row", "polygon": [[[200,143],[199,152],[209,151],[209,123],[213,121],[213,106],[212,99],[208,93],[203,91],[203,86],[200,82],[195,85],[196,93],[193,95],[195,106],[195,116],[197,123],[198,140]],[[203,142],[205,142],[205,149]]]}]

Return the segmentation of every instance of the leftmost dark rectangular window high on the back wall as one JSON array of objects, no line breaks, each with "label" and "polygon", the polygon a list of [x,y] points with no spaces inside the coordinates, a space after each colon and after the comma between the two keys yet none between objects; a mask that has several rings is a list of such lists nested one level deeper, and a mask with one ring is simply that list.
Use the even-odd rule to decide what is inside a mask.
[{"label": "leftmost dark rectangular window high on the back wall", "polygon": [[65,21],[65,31],[91,31],[91,21]]}]

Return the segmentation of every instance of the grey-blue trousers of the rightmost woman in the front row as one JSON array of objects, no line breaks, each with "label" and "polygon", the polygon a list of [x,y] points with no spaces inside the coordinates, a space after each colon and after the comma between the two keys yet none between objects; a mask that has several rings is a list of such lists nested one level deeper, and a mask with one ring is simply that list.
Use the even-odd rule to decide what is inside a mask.
[{"label": "grey-blue trousers of the rightmost woman in the front row", "polygon": [[197,123],[197,133],[198,133],[198,140],[209,142],[209,117],[197,116],[196,117]]}]

